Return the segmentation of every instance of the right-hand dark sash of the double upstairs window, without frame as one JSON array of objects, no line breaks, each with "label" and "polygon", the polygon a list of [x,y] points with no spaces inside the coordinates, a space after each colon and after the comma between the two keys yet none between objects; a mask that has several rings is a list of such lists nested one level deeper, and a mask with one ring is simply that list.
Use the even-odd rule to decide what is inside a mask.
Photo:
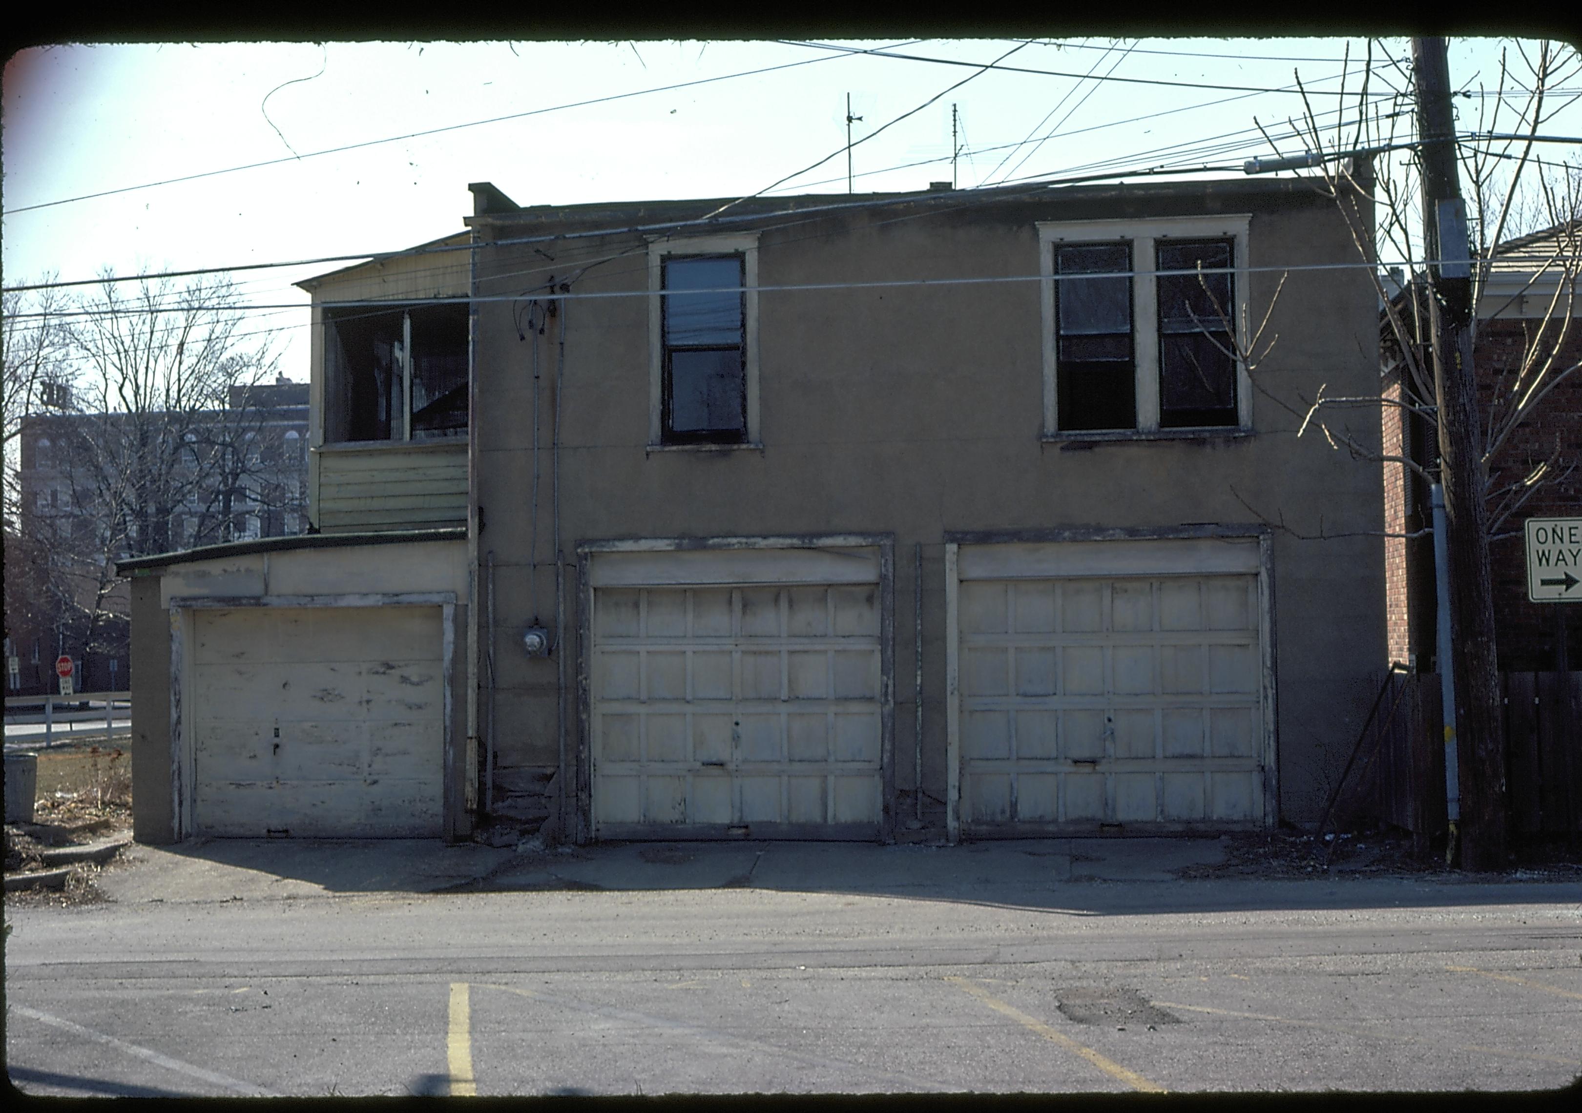
[{"label": "right-hand dark sash of the double upstairs window, without frame", "polygon": [[[1234,425],[1236,348],[1231,326],[1231,240],[1156,243],[1156,267],[1201,274],[1158,277],[1160,427]],[[1210,274],[1218,270],[1220,274]]]}]

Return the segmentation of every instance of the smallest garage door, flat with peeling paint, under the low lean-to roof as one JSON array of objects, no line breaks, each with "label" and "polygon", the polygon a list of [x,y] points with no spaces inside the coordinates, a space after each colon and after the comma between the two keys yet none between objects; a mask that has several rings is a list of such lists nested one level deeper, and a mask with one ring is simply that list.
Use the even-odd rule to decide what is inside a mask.
[{"label": "smallest garage door, flat with peeling paint, under the low lean-to roof", "polygon": [[193,612],[193,830],[441,833],[440,607]]}]

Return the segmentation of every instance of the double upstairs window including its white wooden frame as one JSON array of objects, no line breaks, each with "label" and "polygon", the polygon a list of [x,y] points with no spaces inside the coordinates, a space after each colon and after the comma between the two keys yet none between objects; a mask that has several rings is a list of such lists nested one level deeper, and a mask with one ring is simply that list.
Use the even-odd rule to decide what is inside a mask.
[{"label": "double upstairs window including its white wooden frame", "polygon": [[[1250,217],[1041,223],[1044,435],[1247,428]],[[1174,272],[1174,274],[1171,274]]]}]

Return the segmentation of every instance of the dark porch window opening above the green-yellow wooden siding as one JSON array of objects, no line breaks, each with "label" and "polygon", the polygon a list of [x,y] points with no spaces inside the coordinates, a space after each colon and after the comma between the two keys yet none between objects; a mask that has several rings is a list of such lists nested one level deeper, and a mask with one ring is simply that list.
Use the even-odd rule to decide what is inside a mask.
[{"label": "dark porch window opening above the green-yellow wooden siding", "polygon": [[324,311],[324,440],[467,435],[467,307]]}]

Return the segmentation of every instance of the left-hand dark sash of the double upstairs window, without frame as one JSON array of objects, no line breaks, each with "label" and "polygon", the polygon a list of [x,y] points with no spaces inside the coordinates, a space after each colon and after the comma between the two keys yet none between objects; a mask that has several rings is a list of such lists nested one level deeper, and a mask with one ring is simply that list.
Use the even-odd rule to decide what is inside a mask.
[{"label": "left-hand dark sash of the double upstairs window, without frame", "polygon": [[[1055,281],[1062,428],[1137,427],[1130,270],[1130,243],[1055,248],[1055,274],[1062,275]],[[1103,274],[1118,277],[1065,277]]]}]

